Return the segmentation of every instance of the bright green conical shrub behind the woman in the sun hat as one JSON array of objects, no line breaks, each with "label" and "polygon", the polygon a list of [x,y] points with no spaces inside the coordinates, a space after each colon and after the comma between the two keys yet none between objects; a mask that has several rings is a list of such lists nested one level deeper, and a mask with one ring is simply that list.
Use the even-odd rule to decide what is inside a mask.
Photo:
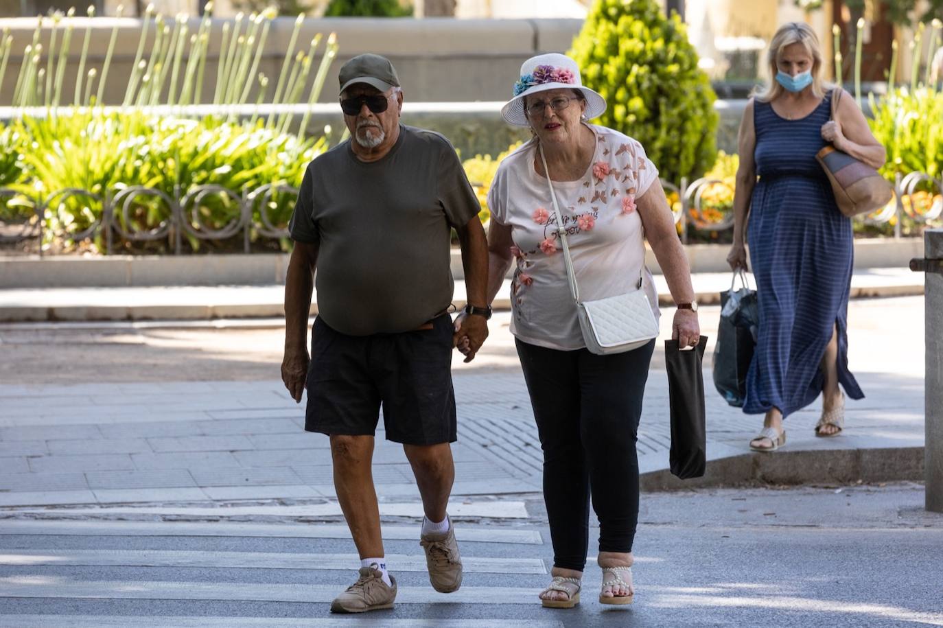
[{"label": "bright green conical shrub behind the woman in the sun hat", "polygon": [[640,141],[662,178],[691,180],[714,164],[716,95],[676,14],[654,0],[596,0],[570,54],[608,103],[599,124]]}]

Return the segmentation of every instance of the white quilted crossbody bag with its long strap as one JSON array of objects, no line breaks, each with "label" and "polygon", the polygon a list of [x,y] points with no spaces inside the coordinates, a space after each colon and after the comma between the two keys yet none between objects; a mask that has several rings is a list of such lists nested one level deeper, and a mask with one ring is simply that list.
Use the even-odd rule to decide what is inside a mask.
[{"label": "white quilted crossbody bag with its long strap", "polygon": [[[658,336],[658,322],[654,318],[652,306],[642,287],[639,273],[635,290],[593,301],[581,301],[576,273],[573,272],[573,260],[570,256],[570,244],[567,242],[567,230],[563,226],[563,216],[556,203],[554,184],[550,180],[547,158],[543,156],[543,146],[538,144],[543,172],[550,188],[550,198],[554,202],[556,215],[556,233],[563,242],[563,257],[567,265],[567,277],[570,280],[570,292],[576,303],[583,340],[590,353],[596,355],[620,354],[632,351]],[[643,267],[644,268],[644,267]]]}]

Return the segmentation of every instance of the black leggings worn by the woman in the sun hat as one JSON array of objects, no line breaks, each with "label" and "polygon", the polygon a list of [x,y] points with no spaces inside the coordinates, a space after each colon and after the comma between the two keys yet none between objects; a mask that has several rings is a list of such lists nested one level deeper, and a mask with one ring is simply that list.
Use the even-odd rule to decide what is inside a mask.
[{"label": "black leggings worn by the woman in the sun hat", "polygon": [[586,567],[590,493],[599,551],[631,552],[638,523],[638,419],[654,340],[610,355],[516,342],[543,449],[554,567]]}]

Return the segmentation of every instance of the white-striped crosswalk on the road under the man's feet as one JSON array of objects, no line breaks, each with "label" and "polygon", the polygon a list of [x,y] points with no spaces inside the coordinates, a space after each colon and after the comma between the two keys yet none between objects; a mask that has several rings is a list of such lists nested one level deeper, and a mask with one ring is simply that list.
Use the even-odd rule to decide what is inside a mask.
[{"label": "white-striped crosswalk on the road under the man's feet", "polygon": [[[482,512],[523,510],[520,502],[488,505]],[[518,529],[520,522],[456,521],[465,580],[443,594],[428,584],[419,527],[415,521],[383,528],[386,558],[400,583],[396,606],[413,610],[402,611],[405,617],[394,609],[382,618],[339,618],[327,605],[353,583],[359,566],[344,525],[0,520],[0,628],[562,625],[521,621],[548,572],[538,530]],[[279,605],[294,610],[272,612]],[[301,608],[305,616],[291,619]],[[442,619],[412,619],[417,613]],[[461,619],[466,614],[470,619]]]}]

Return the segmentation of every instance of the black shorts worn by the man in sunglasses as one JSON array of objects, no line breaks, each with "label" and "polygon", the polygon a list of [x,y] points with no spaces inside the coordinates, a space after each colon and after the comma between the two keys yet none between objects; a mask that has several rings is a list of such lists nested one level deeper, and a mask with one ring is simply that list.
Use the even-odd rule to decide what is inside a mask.
[{"label": "black shorts worn by the man in sunglasses", "polygon": [[319,316],[307,371],[305,429],[370,435],[380,406],[387,439],[409,445],[455,442],[452,318],[432,329],[347,336]]}]

